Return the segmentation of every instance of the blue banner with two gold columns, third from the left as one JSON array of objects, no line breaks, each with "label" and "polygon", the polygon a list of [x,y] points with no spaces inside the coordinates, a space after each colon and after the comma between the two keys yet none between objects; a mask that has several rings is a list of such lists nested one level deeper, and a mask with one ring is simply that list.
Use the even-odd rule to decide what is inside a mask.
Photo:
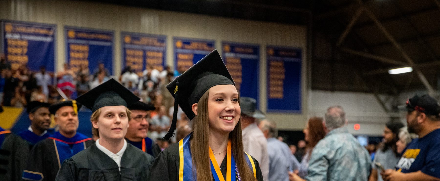
[{"label": "blue banner with two gold columns, third from the left", "polygon": [[162,71],[165,67],[166,36],[121,32],[122,68],[130,66],[138,76],[151,65]]}]

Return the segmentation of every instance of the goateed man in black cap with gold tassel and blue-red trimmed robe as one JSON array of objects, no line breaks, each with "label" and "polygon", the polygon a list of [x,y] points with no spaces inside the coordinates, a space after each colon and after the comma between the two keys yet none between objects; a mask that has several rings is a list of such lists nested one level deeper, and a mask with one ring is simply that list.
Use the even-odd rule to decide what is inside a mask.
[{"label": "goateed man in black cap with gold tassel and blue-red trimmed robe", "polygon": [[59,131],[32,148],[23,180],[54,181],[65,159],[93,144],[92,138],[77,132],[80,107],[76,101],[60,101],[49,106]]}]

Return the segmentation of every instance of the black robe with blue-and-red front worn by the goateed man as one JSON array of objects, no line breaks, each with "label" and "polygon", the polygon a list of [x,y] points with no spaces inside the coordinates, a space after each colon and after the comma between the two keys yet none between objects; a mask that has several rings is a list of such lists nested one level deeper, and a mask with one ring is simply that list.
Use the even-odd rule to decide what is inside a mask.
[{"label": "black robe with blue-and-red front worn by the goateed man", "polygon": [[[54,135],[61,134],[57,132]],[[94,141],[90,138],[84,139],[87,137],[81,133],[77,133],[77,135],[73,137],[76,139],[69,140],[65,137],[61,137],[60,139],[55,138],[60,138],[60,136],[49,137],[33,146],[28,158],[29,164],[24,170],[26,175],[23,175],[23,181],[28,181],[31,178],[39,178],[39,176],[36,177],[35,174],[42,175],[43,178],[41,181],[55,181],[55,177],[64,159],[70,158],[75,153],[80,152],[80,150],[84,150],[94,144]],[[73,141],[77,141],[77,143],[73,144]]]}]

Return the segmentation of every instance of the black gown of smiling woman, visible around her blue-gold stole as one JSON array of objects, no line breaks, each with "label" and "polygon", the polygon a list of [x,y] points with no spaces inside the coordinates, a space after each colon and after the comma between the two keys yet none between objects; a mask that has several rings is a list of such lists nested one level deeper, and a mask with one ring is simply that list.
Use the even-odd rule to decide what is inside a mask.
[{"label": "black gown of smiling woman, visible around her blue-gold stole", "polygon": [[[253,157],[252,159],[255,163],[255,169],[257,170],[257,181],[263,181],[260,165],[257,159]],[[225,156],[220,165],[220,170],[224,178],[226,178],[226,161],[227,157]],[[179,181],[179,167],[179,142],[177,142],[162,151],[156,158],[153,167],[151,167],[150,174],[152,176],[149,181]]]}]

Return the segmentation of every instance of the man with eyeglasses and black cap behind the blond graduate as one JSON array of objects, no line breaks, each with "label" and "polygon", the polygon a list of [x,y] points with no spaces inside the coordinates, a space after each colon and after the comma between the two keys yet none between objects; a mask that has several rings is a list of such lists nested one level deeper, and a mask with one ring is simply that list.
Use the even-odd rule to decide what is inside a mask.
[{"label": "man with eyeglasses and black cap behind the blond graduate", "polygon": [[132,105],[128,105],[128,109],[132,112],[131,119],[128,121],[128,130],[125,134],[125,140],[156,157],[161,152],[159,146],[153,140],[147,137],[150,121],[150,112],[154,110],[154,106],[137,101]]}]

